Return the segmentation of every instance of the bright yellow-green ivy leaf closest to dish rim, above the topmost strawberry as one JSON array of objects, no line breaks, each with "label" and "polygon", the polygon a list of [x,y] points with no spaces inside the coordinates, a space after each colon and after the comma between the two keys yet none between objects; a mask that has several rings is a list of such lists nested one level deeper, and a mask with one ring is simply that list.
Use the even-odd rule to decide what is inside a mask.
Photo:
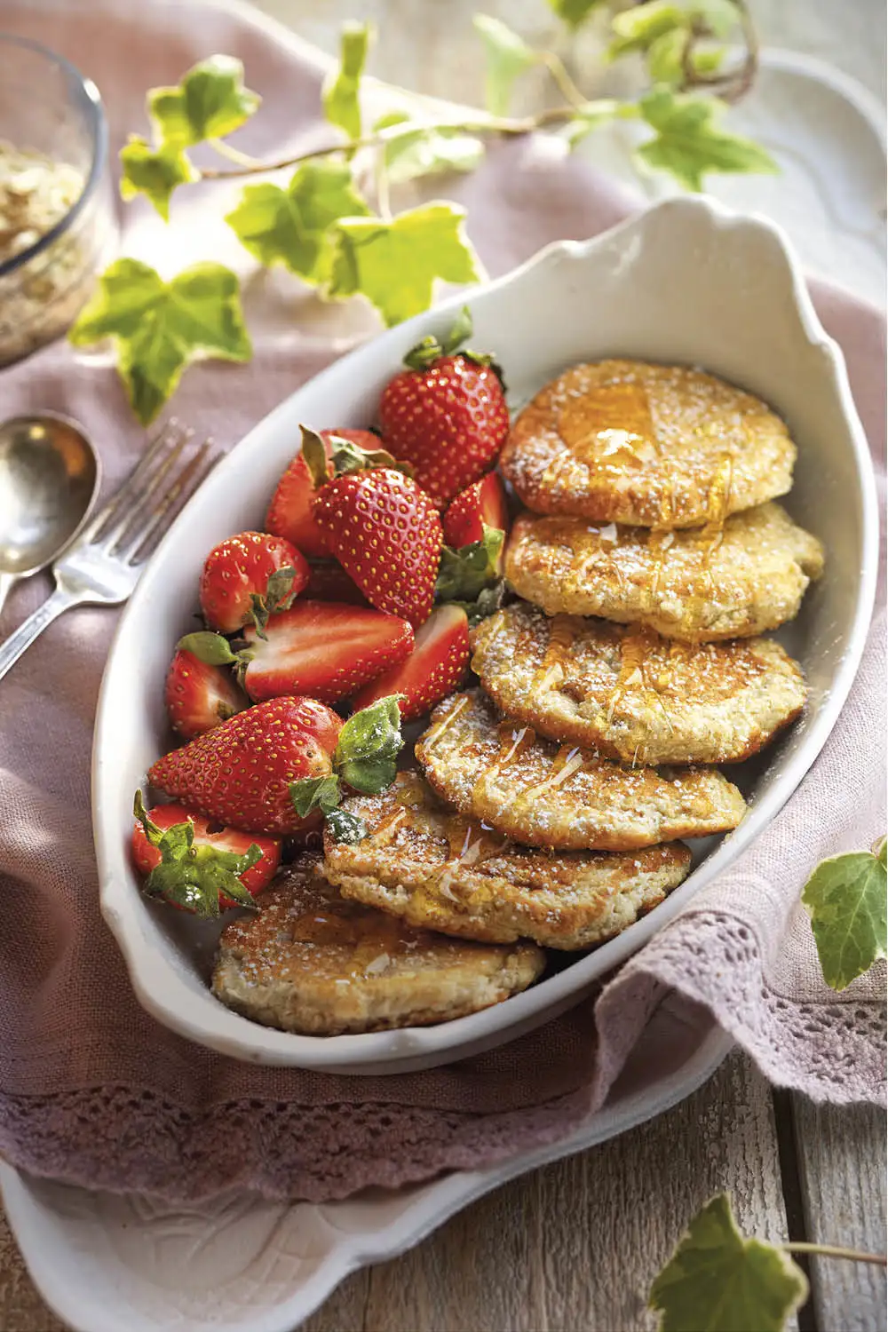
[{"label": "bright yellow-green ivy leaf closest to dish rim, above the topmost strawberry", "polygon": [[391,221],[353,217],[337,222],[330,294],[366,296],[391,326],[429,309],[435,280],[477,282],[465,217],[466,210],[455,204],[433,202]]}]

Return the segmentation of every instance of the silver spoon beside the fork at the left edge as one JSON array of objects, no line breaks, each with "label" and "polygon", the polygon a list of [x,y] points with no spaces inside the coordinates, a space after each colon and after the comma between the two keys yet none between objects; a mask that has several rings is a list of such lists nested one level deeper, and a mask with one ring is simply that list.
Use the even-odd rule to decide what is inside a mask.
[{"label": "silver spoon beside the fork at the left edge", "polygon": [[77,535],[100,476],[76,421],[41,412],[0,425],[0,610],[19,578],[45,569]]}]

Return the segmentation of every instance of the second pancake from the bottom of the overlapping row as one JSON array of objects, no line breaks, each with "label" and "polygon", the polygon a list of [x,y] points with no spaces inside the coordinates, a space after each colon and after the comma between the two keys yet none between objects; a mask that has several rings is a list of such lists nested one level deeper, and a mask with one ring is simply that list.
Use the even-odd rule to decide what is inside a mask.
[{"label": "second pancake from the bottom of the overlapping row", "polygon": [[691,866],[680,842],[622,855],[517,846],[447,810],[418,773],[346,809],[369,831],[354,846],[326,835],[325,871],[343,896],[467,939],[588,948],[662,902]]}]

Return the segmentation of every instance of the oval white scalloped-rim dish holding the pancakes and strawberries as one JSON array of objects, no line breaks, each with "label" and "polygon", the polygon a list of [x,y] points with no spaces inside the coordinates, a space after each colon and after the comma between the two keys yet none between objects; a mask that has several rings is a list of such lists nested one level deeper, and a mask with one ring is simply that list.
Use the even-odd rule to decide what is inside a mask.
[{"label": "oval white scalloped-rim dish holding the pancakes and strawberries", "polygon": [[[750,810],[662,906],[619,938],[502,1004],[435,1027],[296,1036],[248,1022],[208,991],[205,924],[148,903],[129,862],[132,793],[165,743],[161,681],[188,630],[202,559],[261,523],[300,421],[371,421],[406,349],[466,301],[474,342],[497,352],[513,402],[582,360],[626,354],[703,364],[771,402],[799,444],[793,515],[825,543],[788,646],[809,683],[804,721],[746,771]],[[873,598],[877,514],[867,442],[839,348],[825,336],[783,233],[703,198],[675,198],[584,242],[559,242],[486,288],[455,296],[337,361],[270,413],[216,468],[144,573],[114,638],[93,750],[101,906],[141,1003],[201,1044],[260,1063],[379,1074],[431,1067],[511,1040],[574,1004],[723,872],[817,755],[857,669]]]}]

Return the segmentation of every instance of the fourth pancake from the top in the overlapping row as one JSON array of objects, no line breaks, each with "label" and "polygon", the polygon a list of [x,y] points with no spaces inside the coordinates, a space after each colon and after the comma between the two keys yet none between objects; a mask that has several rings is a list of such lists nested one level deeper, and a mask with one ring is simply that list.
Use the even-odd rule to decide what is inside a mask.
[{"label": "fourth pancake from the top in the overlapping row", "polygon": [[631,767],[539,739],[481,690],[435,707],[417,758],[449,805],[526,846],[630,851],[727,832],[746,813],[715,769]]}]

